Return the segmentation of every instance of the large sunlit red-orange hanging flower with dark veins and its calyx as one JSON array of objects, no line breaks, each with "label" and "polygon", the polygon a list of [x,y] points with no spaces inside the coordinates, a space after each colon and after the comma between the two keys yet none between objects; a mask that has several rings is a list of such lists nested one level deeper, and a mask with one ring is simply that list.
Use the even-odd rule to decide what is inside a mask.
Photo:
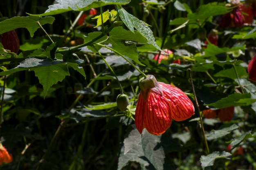
[{"label": "large sunlit red-orange hanging flower with dark veins and its calyx", "polygon": [[142,133],[160,135],[170,126],[171,121],[183,121],[194,115],[195,108],[186,94],[179,88],[157,82],[155,76],[139,80],[141,93],[135,110],[135,125]]}]

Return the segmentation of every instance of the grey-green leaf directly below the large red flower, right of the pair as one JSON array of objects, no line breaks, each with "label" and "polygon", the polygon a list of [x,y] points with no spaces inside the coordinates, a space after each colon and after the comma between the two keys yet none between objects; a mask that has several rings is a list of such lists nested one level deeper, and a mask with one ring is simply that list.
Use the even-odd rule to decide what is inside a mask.
[{"label": "grey-green leaf directly below the large red flower, right of the pair", "polygon": [[159,145],[162,135],[152,135],[143,130],[141,144],[146,158],[153,164],[156,170],[164,169],[164,148]]}]

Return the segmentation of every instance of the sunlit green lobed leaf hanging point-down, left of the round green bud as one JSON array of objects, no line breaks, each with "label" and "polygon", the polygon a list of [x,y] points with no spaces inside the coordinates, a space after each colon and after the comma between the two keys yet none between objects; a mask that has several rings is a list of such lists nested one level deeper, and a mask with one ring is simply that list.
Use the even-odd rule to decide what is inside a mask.
[{"label": "sunlit green lobed leaf hanging point-down, left of the round green bud", "polygon": [[49,63],[48,66],[31,68],[30,71],[35,72],[35,75],[38,77],[40,84],[43,85],[44,97],[47,95],[47,91],[53,84],[61,82],[63,79],[65,79],[66,75],[70,75],[67,69],[67,65],[63,63],[56,65]]}]

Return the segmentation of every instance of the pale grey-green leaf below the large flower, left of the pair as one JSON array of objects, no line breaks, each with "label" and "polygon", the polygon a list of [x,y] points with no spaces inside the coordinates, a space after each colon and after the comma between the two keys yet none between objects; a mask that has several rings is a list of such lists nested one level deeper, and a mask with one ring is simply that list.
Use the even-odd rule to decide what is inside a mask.
[{"label": "pale grey-green leaf below the large flower, left of the pair", "polygon": [[119,154],[117,170],[121,170],[129,161],[140,163],[141,170],[146,170],[146,167],[150,165],[149,161],[144,156],[141,146],[141,134],[139,134],[134,125],[129,126],[126,132],[124,145]]}]

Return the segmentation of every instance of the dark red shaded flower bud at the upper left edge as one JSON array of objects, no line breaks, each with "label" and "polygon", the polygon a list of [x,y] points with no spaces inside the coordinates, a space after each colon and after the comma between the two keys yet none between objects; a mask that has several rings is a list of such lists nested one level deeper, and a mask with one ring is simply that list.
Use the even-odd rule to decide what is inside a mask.
[{"label": "dark red shaded flower bud at the upper left edge", "polygon": [[20,40],[14,30],[2,33],[0,35],[0,42],[4,49],[10,50],[13,53],[18,53],[20,49]]}]

